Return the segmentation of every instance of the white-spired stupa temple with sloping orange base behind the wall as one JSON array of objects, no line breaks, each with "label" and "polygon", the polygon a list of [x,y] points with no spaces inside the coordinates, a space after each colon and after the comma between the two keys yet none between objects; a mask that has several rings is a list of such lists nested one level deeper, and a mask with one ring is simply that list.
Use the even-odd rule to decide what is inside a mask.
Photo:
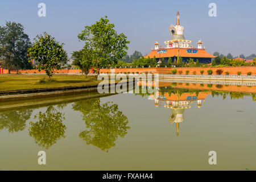
[{"label": "white-spired stupa temple with sloping orange base behind the wall", "polygon": [[179,11],[177,11],[176,26],[171,24],[169,31],[171,39],[164,42],[165,47],[156,42],[155,49],[152,49],[150,54],[144,56],[145,58],[149,56],[152,59],[155,56],[156,61],[159,62],[163,58],[167,62],[169,57],[171,57],[172,61],[179,60],[179,57],[182,57],[184,62],[192,58],[194,61],[199,60],[200,63],[210,63],[212,58],[215,57],[205,51],[201,40],[197,42],[197,48],[193,48],[191,46],[192,41],[185,39],[183,35],[184,27],[180,26]]}]

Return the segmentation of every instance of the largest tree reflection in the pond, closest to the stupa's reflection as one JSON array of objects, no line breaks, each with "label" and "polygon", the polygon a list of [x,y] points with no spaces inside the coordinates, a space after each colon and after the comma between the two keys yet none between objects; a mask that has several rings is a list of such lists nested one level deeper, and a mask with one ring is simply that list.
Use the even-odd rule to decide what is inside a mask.
[{"label": "largest tree reflection in the pond, closest to the stupa's reflection", "polygon": [[100,104],[100,98],[96,98],[75,102],[73,109],[80,111],[85,121],[86,130],[81,131],[79,137],[102,151],[108,152],[118,136],[124,137],[130,129],[127,117],[113,102]]}]

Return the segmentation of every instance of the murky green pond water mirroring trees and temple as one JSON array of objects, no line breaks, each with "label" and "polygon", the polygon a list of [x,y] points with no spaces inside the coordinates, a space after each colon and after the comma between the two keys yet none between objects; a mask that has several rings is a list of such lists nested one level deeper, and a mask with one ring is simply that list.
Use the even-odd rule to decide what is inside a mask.
[{"label": "murky green pond water mirroring trees and temple", "polygon": [[182,111],[133,93],[2,102],[0,169],[255,170],[255,94],[194,91],[171,89],[179,98],[209,93]]}]

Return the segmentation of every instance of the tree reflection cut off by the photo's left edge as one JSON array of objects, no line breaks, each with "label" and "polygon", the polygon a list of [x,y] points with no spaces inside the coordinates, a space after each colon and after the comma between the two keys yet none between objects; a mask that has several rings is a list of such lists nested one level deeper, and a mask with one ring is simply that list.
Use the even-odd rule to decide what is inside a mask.
[{"label": "tree reflection cut off by the photo's left edge", "polygon": [[24,130],[31,114],[32,109],[0,113],[0,130],[7,129],[9,133]]}]

